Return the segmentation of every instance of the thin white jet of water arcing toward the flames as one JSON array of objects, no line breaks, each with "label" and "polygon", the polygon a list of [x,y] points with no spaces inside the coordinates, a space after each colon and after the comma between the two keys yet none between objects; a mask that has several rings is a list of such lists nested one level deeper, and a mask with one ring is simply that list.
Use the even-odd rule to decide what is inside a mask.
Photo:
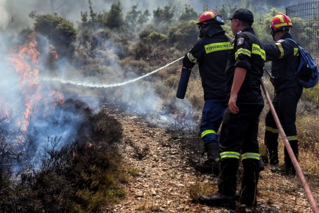
[{"label": "thin white jet of water arcing toward the flames", "polygon": [[[184,57],[184,56],[183,56]],[[62,84],[71,84],[71,85],[74,85],[74,86],[84,86],[84,87],[92,87],[92,88],[108,88],[108,87],[116,87],[116,86],[123,86],[125,84],[128,84],[128,83],[132,83],[134,81],[137,81],[137,80],[140,80],[142,78],[145,78],[146,76],[149,76],[149,75],[152,75],[158,71],[160,71],[161,69],[179,61],[180,59],[182,59],[183,57],[180,57],[168,64],[166,64],[165,66],[162,66],[160,67],[159,69],[157,70],[154,70],[152,72],[149,72],[143,76],[140,76],[138,78],[135,78],[135,79],[132,79],[132,80],[128,80],[128,81],[125,81],[125,82],[122,82],[122,83],[115,83],[115,84],[96,84],[96,83],[82,83],[82,82],[77,82],[77,81],[71,81],[71,80],[66,80],[66,79],[62,79],[62,78],[41,78],[39,80],[43,80],[43,81],[57,81],[57,82],[60,82]]]}]

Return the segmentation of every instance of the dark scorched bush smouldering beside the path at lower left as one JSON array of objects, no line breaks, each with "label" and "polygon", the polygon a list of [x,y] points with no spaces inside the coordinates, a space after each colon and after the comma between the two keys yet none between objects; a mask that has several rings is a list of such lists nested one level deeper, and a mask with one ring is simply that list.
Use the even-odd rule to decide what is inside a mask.
[{"label": "dark scorched bush smouldering beside the path at lower left", "polygon": [[66,100],[57,108],[84,115],[77,137],[63,145],[61,137],[48,136],[38,169],[30,165],[13,176],[1,167],[0,212],[100,212],[125,195],[116,146],[121,124],[81,101]]}]

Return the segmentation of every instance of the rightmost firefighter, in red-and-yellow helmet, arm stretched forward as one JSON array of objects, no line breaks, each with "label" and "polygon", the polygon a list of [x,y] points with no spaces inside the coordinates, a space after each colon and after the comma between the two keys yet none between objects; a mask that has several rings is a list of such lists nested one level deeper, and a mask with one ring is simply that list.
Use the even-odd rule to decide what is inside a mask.
[{"label": "rightmost firefighter, in red-and-yellow helmet, arm stretched forward", "polygon": [[[292,39],[290,29],[293,24],[291,19],[284,13],[276,15],[271,23],[271,35],[276,41],[274,44],[264,44],[267,60],[272,61],[271,81],[275,88],[273,104],[279,120],[287,135],[293,152],[298,158],[298,138],[296,130],[297,103],[303,93],[303,87],[298,83],[296,73],[300,61],[298,46]],[[265,120],[265,145],[267,153],[263,156],[266,163],[278,165],[278,135],[279,131],[271,111],[266,115]],[[295,175],[296,171],[285,148],[285,163],[273,167],[273,172]]]}]

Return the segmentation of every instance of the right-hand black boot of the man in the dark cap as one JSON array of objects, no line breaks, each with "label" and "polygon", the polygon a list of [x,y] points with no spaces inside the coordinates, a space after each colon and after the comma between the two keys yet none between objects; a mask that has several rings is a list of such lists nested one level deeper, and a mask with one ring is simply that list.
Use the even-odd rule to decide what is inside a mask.
[{"label": "right-hand black boot of the man in the dark cap", "polygon": [[257,185],[259,180],[260,161],[243,160],[243,179],[241,183],[240,203],[249,207],[257,205]]}]

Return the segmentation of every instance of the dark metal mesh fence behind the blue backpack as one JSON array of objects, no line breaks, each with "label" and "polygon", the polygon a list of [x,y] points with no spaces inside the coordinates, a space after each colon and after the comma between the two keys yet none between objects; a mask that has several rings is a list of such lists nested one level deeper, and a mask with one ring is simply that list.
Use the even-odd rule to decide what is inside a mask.
[{"label": "dark metal mesh fence behind the blue backpack", "polygon": [[[291,34],[319,64],[319,1],[301,3],[286,8],[286,14],[292,19]],[[301,101],[309,113],[319,114],[319,85],[304,89]]]}]

